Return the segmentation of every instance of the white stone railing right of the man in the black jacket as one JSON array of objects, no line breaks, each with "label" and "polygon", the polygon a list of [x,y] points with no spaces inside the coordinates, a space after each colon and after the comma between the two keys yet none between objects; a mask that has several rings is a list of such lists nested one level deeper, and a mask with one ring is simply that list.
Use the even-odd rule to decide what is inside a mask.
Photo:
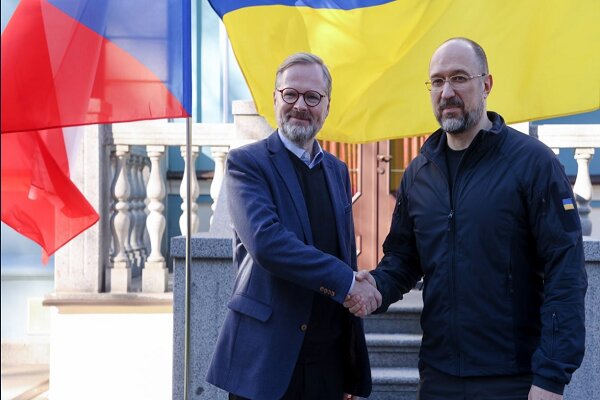
[{"label": "white stone railing right of the man in the black jacket", "polygon": [[589,236],[592,232],[589,214],[592,210],[590,202],[593,193],[589,165],[594,156],[594,149],[600,148],[600,125],[541,125],[537,128],[537,135],[556,154],[560,149],[575,149],[577,178],[573,192],[583,234]]}]

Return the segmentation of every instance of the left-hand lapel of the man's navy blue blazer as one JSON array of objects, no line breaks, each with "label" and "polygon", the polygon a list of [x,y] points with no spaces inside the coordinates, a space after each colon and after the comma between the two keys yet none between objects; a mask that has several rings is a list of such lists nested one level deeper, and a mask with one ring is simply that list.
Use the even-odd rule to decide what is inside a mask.
[{"label": "left-hand lapel of the man's navy blue blazer", "polygon": [[298,183],[298,177],[294,171],[294,165],[287,154],[285,146],[283,146],[283,143],[281,143],[277,131],[272,133],[267,139],[267,147],[271,152],[271,160],[275,165],[275,169],[277,169],[277,172],[281,176],[281,179],[290,192],[292,201],[294,203],[294,208],[300,216],[300,221],[302,222],[302,231],[304,232],[306,243],[313,244],[310,220],[308,219],[308,211],[306,210],[304,195],[302,194],[302,189]]}]

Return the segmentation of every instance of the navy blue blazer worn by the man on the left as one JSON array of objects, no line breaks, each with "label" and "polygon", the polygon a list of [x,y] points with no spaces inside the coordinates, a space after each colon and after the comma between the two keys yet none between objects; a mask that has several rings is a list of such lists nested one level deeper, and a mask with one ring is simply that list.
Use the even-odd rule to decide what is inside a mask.
[{"label": "navy blue blazer worn by the man on the left", "polygon": [[[234,228],[234,293],[207,381],[250,399],[280,399],[302,347],[314,296],[342,303],[356,270],[348,168],[323,158],[340,257],[313,246],[302,190],[277,132],[231,150],[224,188]],[[371,373],[362,320],[349,335],[349,393],[366,397]]]}]

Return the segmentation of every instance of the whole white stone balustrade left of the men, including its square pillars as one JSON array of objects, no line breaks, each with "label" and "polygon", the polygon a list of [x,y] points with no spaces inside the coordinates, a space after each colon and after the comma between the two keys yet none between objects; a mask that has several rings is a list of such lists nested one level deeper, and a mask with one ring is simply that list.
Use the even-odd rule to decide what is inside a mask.
[{"label": "whole white stone balustrade left of the men, including its square pillars", "polygon": [[[213,211],[229,149],[271,131],[252,102],[234,102],[233,113],[231,124],[192,124],[192,165],[202,147],[210,148],[215,162],[210,183]],[[164,159],[169,147],[177,147],[185,163],[185,138],[185,123],[166,120],[86,127],[75,167],[78,174],[72,179],[96,208],[100,221],[57,253],[56,296],[73,292],[151,294],[168,291],[167,261],[161,250],[167,223]],[[177,218],[182,235],[187,233],[185,182],[188,170],[185,165],[179,189],[183,204]],[[200,226],[197,179],[192,180],[191,190],[194,234]],[[141,280],[134,279],[138,275]]]}]

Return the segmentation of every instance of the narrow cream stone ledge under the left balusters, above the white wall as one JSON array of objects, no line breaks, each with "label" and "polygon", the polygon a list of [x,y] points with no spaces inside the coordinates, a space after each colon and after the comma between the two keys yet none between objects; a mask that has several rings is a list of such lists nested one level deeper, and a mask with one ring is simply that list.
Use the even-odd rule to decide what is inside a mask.
[{"label": "narrow cream stone ledge under the left balusters, above the white wall", "polygon": [[42,303],[46,307],[61,306],[172,306],[173,293],[50,293]]}]

